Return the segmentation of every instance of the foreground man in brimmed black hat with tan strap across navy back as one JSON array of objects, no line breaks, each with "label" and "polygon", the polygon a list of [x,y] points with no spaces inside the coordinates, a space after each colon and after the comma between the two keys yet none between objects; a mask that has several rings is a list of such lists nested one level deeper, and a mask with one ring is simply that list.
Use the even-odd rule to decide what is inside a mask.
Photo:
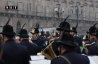
[{"label": "foreground man in brimmed black hat with tan strap across navy back", "polygon": [[57,45],[61,55],[52,59],[51,64],[90,64],[87,56],[74,51],[76,44],[71,34],[64,33]]}]

